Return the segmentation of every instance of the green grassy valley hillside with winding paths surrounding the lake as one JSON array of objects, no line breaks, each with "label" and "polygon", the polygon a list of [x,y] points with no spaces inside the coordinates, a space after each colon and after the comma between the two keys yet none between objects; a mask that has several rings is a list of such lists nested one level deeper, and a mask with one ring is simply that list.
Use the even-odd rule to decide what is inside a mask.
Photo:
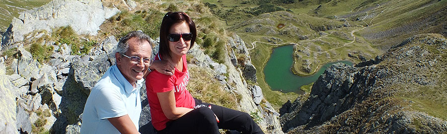
[{"label": "green grassy valley hillside with winding paths surrounding the lake", "polygon": [[[325,63],[373,59],[415,34],[447,35],[447,0],[204,2],[226,22],[228,30],[249,44],[247,48],[255,57],[252,62],[260,69],[258,82],[265,92],[270,87],[264,84],[262,68],[271,49],[278,46],[295,45],[292,71],[310,75]],[[266,98],[274,101],[275,95],[269,95]]]}]

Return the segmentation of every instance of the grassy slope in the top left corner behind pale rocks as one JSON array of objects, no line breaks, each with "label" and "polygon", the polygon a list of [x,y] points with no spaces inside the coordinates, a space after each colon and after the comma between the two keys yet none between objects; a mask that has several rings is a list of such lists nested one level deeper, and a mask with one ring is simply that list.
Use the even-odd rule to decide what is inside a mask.
[{"label": "grassy slope in the top left corner behind pale rocks", "polygon": [[19,12],[33,9],[48,3],[51,0],[1,0],[0,1],[0,32],[8,28],[13,17]]}]

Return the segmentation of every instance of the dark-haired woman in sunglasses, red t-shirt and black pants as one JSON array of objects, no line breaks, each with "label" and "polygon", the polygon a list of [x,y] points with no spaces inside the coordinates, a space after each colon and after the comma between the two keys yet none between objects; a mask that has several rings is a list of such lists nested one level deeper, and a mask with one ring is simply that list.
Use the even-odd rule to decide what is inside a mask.
[{"label": "dark-haired woman in sunglasses, red t-shirt and black pants", "polygon": [[220,134],[219,129],[264,134],[247,113],[202,103],[186,90],[186,53],[196,37],[196,26],[186,13],[168,12],[163,17],[155,60],[170,61],[175,69],[172,76],[153,71],[146,78],[153,127],[158,134]]}]

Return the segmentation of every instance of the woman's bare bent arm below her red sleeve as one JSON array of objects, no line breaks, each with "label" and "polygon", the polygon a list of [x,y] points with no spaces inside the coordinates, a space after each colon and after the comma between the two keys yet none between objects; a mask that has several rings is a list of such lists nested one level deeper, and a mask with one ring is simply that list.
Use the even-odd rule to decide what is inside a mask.
[{"label": "woman's bare bent arm below her red sleeve", "polygon": [[160,101],[161,110],[163,110],[164,116],[169,120],[178,119],[193,110],[190,108],[175,107],[174,90],[159,92],[157,96]]}]

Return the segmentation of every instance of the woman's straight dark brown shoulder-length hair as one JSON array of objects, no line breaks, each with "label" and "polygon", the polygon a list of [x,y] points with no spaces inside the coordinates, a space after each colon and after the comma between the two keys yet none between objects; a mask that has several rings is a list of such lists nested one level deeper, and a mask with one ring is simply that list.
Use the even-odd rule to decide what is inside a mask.
[{"label": "woman's straight dark brown shoulder-length hair", "polygon": [[161,28],[160,28],[160,45],[159,45],[159,51],[158,53],[160,55],[169,55],[169,40],[168,40],[168,34],[169,30],[171,29],[171,26],[176,23],[180,23],[185,21],[186,24],[189,26],[189,31],[192,33],[191,38],[191,46],[189,49],[191,49],[194,46],[194,42],[196,41],[197,37],[197,30],[196,30],[196,24],[194,24],[194,21],[191,20],[191,18],[188,16],[188,14],[184,12],[168,12],[164,15],[163,20],[161,21]]}]

